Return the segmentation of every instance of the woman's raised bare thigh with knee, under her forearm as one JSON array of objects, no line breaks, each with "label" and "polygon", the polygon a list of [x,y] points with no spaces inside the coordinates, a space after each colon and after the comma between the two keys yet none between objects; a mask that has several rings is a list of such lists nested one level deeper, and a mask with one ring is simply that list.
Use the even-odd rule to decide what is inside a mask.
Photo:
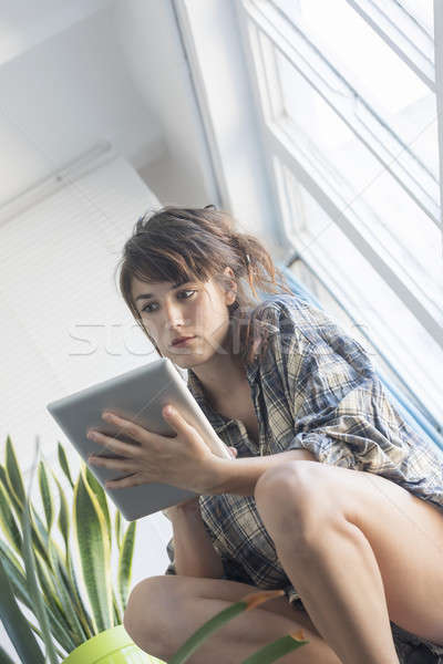
[{"label": "woman's raised bare thigh with knee, under her forearm", "polygon": [[354,523],[377,558],[390,619],[443,644],[443,512],[382,476],[297,463],[295,502],[306,504],[307,518],[340,510]]}]

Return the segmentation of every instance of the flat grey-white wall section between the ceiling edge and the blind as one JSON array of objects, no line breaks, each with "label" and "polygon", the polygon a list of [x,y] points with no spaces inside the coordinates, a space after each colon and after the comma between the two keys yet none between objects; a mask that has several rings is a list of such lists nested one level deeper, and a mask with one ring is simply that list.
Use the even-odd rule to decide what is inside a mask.
[{"label": "flat grey-white wall section between the ceiling edge and the blind", "polygon": [[0,66],[0,203],[99,139],[136,167],[164,151],[113,25],[105,8]]}]

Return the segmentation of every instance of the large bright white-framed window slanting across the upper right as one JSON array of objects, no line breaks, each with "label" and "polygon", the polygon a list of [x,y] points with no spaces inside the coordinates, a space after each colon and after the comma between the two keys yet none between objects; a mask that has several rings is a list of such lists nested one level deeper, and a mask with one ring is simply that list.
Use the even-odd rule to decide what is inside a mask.
[{"label": "large bright white-framed window slanting across the upper right", "polygon": [[375,365],[441,430],[432,0],[241,8],[287,263],[332,315],[358,321]]}]

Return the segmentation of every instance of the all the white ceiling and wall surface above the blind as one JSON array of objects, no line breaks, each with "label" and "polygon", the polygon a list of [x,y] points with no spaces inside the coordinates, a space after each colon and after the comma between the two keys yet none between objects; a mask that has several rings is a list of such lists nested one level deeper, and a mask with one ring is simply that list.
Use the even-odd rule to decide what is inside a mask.
[{"label": "all the white ceiling and wall surface above the blind", "polygon": [[0,207],[102,141],[205,200],[194,104],[168,2],[0,0]]}]

